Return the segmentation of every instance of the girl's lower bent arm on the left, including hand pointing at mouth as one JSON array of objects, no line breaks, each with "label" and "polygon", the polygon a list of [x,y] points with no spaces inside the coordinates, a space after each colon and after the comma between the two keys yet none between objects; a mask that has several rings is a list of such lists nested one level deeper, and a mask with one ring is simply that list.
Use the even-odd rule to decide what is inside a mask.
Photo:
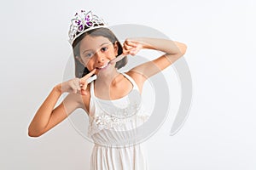
[{"label": "girl's lower bent arm on the left, including hand pointing at mouth", "polygon": [[[84,103],[81,95],[88,97],[86,80],[94,74],[91,71],[83,78],[74,78],[67,82],[62,82],[55,86],[44,100],[44,103],[39,107],[36,115],[28,127],[28,135],[38,137],[46,133],[52,127],[62,122],[68,115],[78,108],[84,108]],[[55,108],[55,104],[60,99],[61,94],[70,93],[67,97]]]}]

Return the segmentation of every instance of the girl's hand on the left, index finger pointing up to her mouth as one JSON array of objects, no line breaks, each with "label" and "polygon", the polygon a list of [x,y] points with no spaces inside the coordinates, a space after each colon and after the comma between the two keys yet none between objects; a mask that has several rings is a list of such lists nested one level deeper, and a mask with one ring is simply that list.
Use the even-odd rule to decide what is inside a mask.
[{"label": "girl's hand on the left, index finger pointing up to her mouth", "polygon": [[73,93],[73,94],[82,94],[85,95],[87,88],[87,80],[96,72],[96,69],[90,71],[87,75],[82,78],[73,78],[67,82],[62,82],[57,85],[58,89],[61,90],[62,93]]}]

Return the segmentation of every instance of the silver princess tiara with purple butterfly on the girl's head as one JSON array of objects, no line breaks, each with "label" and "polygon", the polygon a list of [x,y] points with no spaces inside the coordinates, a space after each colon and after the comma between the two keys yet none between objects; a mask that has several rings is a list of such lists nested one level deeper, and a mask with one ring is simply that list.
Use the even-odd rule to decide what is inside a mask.
[{"label": "silver princess tiara with purple butterfly on the girl's head", "polygon": [[68,37],[71,44],[86,31],[90,31],[96,28],[107,27],[107,23],[91,11],[86,13],[81,10],[80,13],[76,13],[71,20],[71,25],[68,31]]}]

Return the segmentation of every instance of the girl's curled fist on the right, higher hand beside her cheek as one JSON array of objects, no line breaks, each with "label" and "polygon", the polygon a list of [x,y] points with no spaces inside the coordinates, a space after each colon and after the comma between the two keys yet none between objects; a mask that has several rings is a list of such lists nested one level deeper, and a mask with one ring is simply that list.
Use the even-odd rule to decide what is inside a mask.
[{"label": "girl's curled fist on the right, higher hand beside her cheek", "polygon": [[123,47],[123,54],[136,55],[143,48],[143,43],[132,39],[126,39]]}]

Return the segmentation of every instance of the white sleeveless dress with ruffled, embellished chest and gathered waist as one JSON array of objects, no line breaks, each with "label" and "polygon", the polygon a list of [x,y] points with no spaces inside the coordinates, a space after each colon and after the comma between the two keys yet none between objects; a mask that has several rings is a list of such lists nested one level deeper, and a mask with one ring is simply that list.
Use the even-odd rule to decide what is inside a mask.
[{"label": "white sleeveless dress with ruffled, embellished chest and gathered waist", "polygon": [[146,122],[136,82],[122,73],[133,85],[120,99],[96,98],[94,81],[90,82],[88,134],[94,141],[90,170],[148,170],[145,146],[137,142],[137,127]]}]

